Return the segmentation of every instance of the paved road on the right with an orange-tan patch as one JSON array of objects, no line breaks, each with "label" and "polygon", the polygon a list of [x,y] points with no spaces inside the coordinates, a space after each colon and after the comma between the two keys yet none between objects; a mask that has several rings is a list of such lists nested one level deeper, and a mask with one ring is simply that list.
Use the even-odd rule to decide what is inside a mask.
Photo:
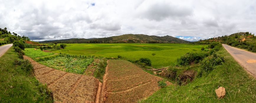
[{"label": "paved road on the right with an orange-tan patch", "polygon": [[242,67],[256,77],[256,53],[237,49],[226,44],[222,45]]}]

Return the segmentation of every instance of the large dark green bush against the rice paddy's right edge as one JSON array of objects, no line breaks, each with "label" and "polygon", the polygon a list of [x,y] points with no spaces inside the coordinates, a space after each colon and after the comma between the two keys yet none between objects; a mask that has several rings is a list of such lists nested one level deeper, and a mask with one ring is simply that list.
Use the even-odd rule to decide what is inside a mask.
[{"label": "large dark green bush against the rice paddy's right edge", "polygon": [[187,52],[177,59],[178,66],[186,66],[192,63],[198,63],[200,60],[207,57],[209,54],[206,52]]}]

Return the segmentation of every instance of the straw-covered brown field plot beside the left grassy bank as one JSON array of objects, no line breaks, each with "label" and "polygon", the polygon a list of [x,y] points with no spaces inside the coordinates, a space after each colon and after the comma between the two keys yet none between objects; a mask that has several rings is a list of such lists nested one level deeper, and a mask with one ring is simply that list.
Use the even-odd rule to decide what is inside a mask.
[{"label": "straw-covered brown field plot beside the left grassy bank", "polygon": [[98,79],[52,69],[27,56],[24,59],[33,65],[35,77],[52,90],[54,102],[96,102],[97,90],[101,90]]}]

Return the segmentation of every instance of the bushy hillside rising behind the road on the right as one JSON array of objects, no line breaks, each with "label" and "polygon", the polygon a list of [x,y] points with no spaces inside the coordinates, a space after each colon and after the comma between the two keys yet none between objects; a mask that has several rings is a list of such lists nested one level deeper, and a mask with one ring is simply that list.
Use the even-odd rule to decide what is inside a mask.
[{"label": "bushy hillside rising behind the road on the right", "polygon": [[219,36],[216,38],[210,38],[206,40],[199,40],[193,42],[196,44],[211,44],[212,42],[220,42],[228,44],[230,46],[247,49],[249,51],[256,52],[256,36],[249,32],[239,32],[231,35]]}]

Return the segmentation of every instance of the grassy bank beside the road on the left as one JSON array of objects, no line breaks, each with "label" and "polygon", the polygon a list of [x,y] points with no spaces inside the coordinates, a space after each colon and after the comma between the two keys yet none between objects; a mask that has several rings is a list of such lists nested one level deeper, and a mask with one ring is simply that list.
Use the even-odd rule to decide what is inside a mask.
[{"label": "grassy bank beside the road on the left", "polygon": [[46,86],[15,66],[14,59],[18,56],[13,48],[0,57],[0,102],[53,102],[44,93]]}]

